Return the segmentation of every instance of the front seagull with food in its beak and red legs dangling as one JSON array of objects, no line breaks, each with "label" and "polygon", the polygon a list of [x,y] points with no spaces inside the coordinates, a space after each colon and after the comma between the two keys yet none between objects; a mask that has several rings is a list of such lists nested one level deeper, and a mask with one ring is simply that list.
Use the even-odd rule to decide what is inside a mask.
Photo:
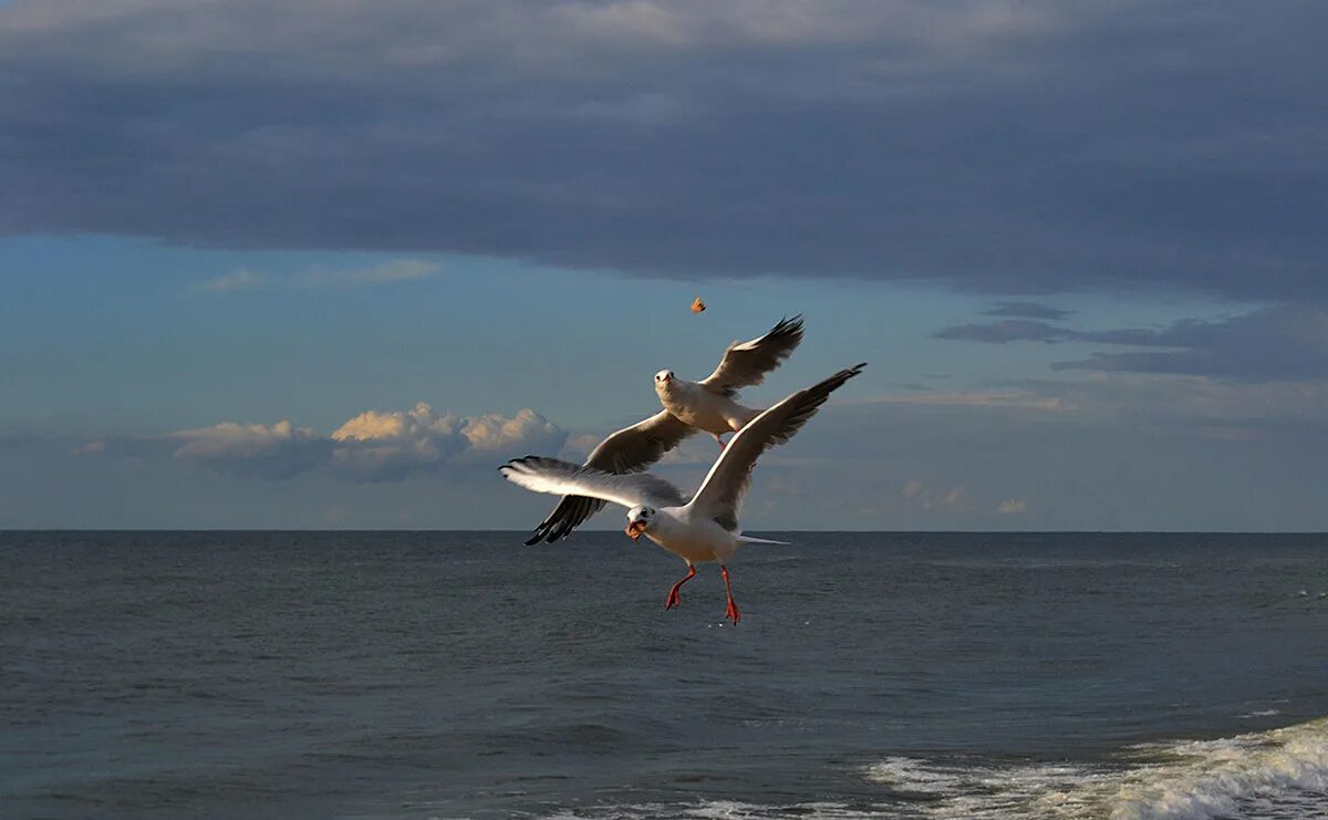
[{"label": "front seagull with food in its beak and red legs dangling", "polygon": [[507,480],[534,492],[576,495],[627,507],[627,535],[643,535],[687,561],[687,576],[669,589],[664,609],[679,605],[679,589],[696,576],[697,561],[717,561],[729,597],[724,617],[738,622],[728,560],[738,544],[782,544],[742,535],[738,507],[752,483],[757,458],[774,444],[788,442],[846,381],[866,364],[847,368],[810,387],[798,390],[738,430],[705,482],[691,500],[668,480],[649,472],[612,474],[584,464],[527,455],[498,468]]}]

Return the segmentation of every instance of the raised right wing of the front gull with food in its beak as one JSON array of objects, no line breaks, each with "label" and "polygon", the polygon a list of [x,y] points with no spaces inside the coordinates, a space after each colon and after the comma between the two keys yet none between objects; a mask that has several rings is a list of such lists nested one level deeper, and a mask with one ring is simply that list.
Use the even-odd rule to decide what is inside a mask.
[{"label": "raised right wing of the front gull with food in its beak", "polygon": [[782,444],[793,438],[793,434],[817,414],[831,393],[862,373],[866,366],[861,364],[841,370],[823,382],[798,390],[748,422],[729,441],[720,460],[710,467],[701,488],[692,498],[692,510],[714,519],[726,529],[737,529],[738,507],[752,483],[752,467],[756,466],[756,459],[774,444]]}]

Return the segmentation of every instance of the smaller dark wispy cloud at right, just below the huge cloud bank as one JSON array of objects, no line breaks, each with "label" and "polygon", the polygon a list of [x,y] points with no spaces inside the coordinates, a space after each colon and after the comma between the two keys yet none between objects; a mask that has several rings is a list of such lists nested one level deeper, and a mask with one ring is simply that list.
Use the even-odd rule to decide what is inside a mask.
[{"label": "smaller dark wispy cloud at right, just below the huge cloud bank", "polygon": [[1328,378],[1328,310],[1278,305],[1219,320],[1182,320],[1162,329],[1076,330],[1031,320],[944,328],[936,338],[1007,344],[1085,342],[1155,350],[1094,353],[1058,370],[1171,373],[1239,379]]}]

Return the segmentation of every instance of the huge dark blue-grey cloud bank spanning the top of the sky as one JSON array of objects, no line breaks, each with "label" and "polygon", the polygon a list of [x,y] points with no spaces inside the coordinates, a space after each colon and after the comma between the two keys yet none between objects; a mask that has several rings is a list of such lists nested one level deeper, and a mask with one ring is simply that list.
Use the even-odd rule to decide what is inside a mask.
[{"label": "huge dark blue-grey cloud bank spanning the top of the sky", "polygon": [[1328,297],[1325,20],[33,0],[0,12],[0,231]]}]

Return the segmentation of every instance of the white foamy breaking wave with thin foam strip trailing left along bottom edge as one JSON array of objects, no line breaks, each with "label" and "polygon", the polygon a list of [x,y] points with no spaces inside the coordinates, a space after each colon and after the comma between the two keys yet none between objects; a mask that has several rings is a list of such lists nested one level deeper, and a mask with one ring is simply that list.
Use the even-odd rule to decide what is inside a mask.
[{"label": "white foamy breaking wave with thin foam strip trailing left along bottom edge", "polygon": [[878,793],[761,804],[699,799],[578,807],[548,820],[1303,820],[1328,817],[1328,718],[1218,740],[1131,746],[1100,763],[886,758]]}]

